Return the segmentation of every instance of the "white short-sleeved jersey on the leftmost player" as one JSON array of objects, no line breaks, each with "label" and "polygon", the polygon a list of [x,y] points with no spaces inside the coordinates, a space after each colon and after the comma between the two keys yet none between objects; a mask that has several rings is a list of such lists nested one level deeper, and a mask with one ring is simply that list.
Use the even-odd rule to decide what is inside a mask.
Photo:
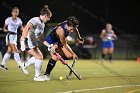
[{"label": "white short-sleeved jersey on the leftmost player", "polygon": [[18,27],[22,26],[22,21],[19,17],[14,21],[12,17],[8,17],[5,20],[5,24],[8,25],[8,31],[17,33]]}]

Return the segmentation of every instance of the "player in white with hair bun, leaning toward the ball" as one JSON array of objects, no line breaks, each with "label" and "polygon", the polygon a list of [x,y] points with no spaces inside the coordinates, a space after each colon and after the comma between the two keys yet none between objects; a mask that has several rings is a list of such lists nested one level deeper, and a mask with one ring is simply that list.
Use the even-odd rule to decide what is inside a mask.
[{"label": "player in white with hair bun, leaning toward the ball", "polygon": [[45,81],[45,79],[40,76],[43,55],[38,48],[37,41],[44,41],[44,23],[49,21],[51,16],[51,11],[47,6],[44,6],[44,8],[40,11],[40,16],[30,19],[22,33],[21,50],[26,50],[29,54],[32,55],[32,57],[27,62],[25,62],[24,66],[27,68],[32,64],[35,65],[34,81]]}]

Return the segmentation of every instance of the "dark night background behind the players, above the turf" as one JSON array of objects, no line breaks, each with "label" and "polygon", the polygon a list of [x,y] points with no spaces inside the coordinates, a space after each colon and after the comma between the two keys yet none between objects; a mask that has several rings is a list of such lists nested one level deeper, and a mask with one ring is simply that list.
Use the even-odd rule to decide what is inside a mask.
[{"label": "dark night background behind the players, above the turf", "polygon": [[[26,24],[30,18],[39,16],[45,4],[53,14],[48,25],[56,25],[66,20],[68,16],[76,16],[80,21],[79,31],[84,39],[86,40],[88,36],[93,37],[96,47],[81,49],[84,51],[79,49],[77,52],[80,51],[81,58],[84,58],[85,54],[92,55],[92,58],[100,57],[99,34],[106,22],[113,25],[113,30],[119,38],[114,42],[113,58],[136,59],[140,56],[140,3],[138,0],[3,0],[0,1],[0,27],[3,27],[5,19],[11,16],[12,7],[19,7],[19,17]],[[48,32],[47,29],[46,32]],[[2,42],[4,39],[0,40]],[[46,47],[40,49],[46,53]]]}]

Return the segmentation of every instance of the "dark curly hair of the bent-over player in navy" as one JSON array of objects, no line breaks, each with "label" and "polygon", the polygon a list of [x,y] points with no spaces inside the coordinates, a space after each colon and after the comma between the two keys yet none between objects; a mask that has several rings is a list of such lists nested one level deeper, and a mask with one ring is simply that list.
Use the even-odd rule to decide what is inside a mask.
[{"label": "dark curly hair of the bent-over player in navy", "polygon": [[68,26],[72,26],[74,28],[77,28],[79,26],[79,21],[76,17],[71,16],[71,17],[68,17],[67,24],[68,24]]}]

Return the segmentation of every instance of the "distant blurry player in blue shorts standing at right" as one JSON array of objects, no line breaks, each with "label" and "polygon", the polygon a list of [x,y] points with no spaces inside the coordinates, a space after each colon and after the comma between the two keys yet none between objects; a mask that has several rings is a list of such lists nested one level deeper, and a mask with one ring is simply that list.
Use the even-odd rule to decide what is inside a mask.
[{"label": "distant blurry player in blue shorts standing at right", "polygon": [[100,35],[102,39],[102,56],[101,62],[104,62],[105,55],[109,56],[110,63],[112,63],[112,54],[114,51],[113,40],[116,39],[116,35],[112,30],[112,25],[110,23],[106,24],[106,29],[103,29]]}]

